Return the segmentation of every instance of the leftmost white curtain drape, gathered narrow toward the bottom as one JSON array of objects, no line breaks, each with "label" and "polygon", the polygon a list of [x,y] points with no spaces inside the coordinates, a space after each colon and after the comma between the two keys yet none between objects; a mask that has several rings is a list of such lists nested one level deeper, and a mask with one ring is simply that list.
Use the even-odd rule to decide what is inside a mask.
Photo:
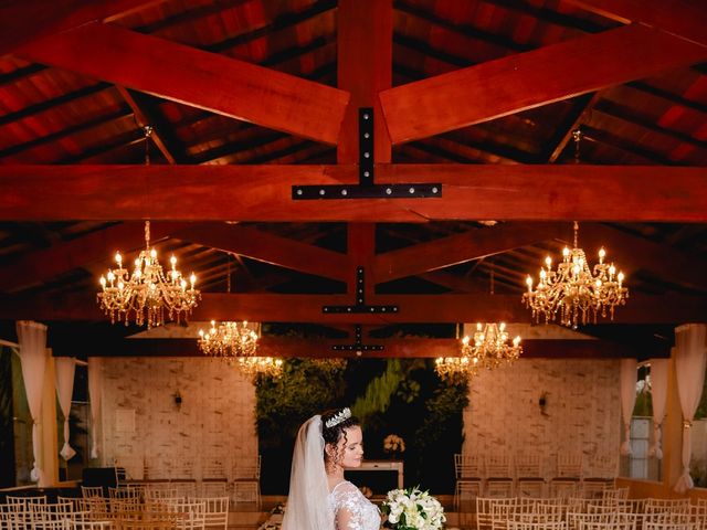
[{"label": "leftmost white curtain drape, gathered narrow toward the bottom", "polygon": [[34,463],[30,478],[40,483],[42,468],[40,465],[42,393],[44,388],[44,371],[46,369],[46,326],[30,320],[17,322],[18,342],[20,343],[20,363],[22,380],[27,392],[27,402],[32,416],[32,453]]}]

